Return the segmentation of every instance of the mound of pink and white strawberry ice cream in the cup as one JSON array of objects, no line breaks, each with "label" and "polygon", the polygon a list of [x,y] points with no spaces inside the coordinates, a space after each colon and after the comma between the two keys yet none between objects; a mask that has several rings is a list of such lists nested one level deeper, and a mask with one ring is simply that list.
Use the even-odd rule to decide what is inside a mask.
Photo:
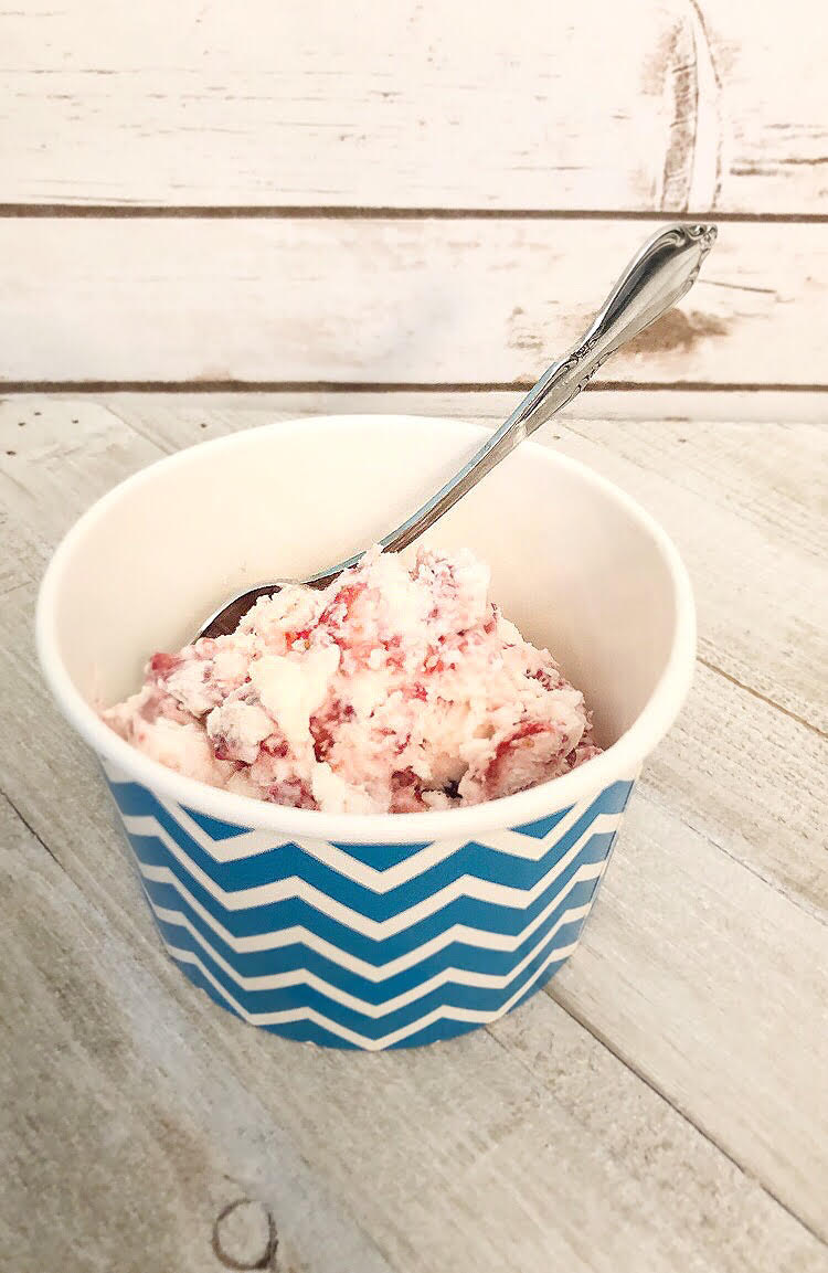
[{"label": "mound of pink and white strawberry ice cream in the cup", "polygon": [[103,713],[127,742],[229,792],[330,813],[524,791],[597,755],[582,694],[488,600],[470,552],[372,549],[325,592],[262,597],[231,636],[154,654]]}]

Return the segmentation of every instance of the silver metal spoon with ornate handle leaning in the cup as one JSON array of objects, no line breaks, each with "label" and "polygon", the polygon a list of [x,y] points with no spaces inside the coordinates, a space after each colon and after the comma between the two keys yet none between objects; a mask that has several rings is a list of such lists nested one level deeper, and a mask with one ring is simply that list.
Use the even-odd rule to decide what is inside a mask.
[{"label": "silver metal spoon with ornate handle leaning in the cup", "polygon": [[[693,286],[699,266],[716,242],[715,225],[667,225],[647,239],[610,292],[592,326],[578,344],[544,372],[524,401],[512,411],[480,449],[423,504],[408,521],[380,542],[389,552],[400,552],[447,513],[459,499],[485,477],[515,447],[545,424],[555,411],[571,402],[610,354],[628,344],[645,327],[670,309]],[[304,583],[326,588],[336,575],[357,565],[357,552],[327,570],[320,570]],[[205,620],[199,636],[232,633],[259,597],[273,596],[285,583],[282,579],[248,588],[227,601]]]}]

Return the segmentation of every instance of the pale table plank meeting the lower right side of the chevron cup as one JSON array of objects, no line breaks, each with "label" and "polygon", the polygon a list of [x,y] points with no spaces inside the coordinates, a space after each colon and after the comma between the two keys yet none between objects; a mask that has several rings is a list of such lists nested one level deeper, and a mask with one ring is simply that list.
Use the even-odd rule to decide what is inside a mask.
[{"label": "pale table plank meeting the lower right side of the chevron cup", "polygon": [[629,820],[549,993],[827,1236],[824,917],[796,918],[667,808],[642,799]]}]

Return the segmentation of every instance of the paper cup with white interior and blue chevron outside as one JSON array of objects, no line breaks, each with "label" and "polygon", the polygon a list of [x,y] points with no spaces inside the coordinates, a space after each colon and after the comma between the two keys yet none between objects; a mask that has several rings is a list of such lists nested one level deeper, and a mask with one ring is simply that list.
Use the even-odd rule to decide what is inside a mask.
[{"label": "paper cup with white interior and blue chevron outside", "polygon": [[494,1021],[576,948],[642,760],[689,685],[671,544],[610,484],[525,444],[428,536],[585,691],[603,756],[518,796],[324,815],[166,770],[97,714],[218,601],[373,542],[485,437],[455,420],[288,421],[205,443],[96,504],[42,584],[38,649],[101,757],[162,938],[218,1003],[278,1034],[389,1048]]}]

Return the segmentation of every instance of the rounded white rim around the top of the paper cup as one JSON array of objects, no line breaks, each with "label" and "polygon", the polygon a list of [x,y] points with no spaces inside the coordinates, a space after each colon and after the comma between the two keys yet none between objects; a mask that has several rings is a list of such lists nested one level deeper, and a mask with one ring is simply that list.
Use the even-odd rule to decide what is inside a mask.
[{"label": "rounded white rim around the top of the paper cup", "polygon": [[[618,779],[632,779],[638,773],[642,761],[657,746],[675,721],[693,679],[696,659],[696,607],[693,589],[687,569],[666,531],[647,513],[637,500],[627,495],[619,486],[601,477],[587,465],[559,452],[541,447],[538,443],[524,443],[536,452],[538,462],[558,465],[577,472],[582,479],[600,490],[608,499],[623,508],[633,521],[645,528],[664,559],[675,602],[675,633],[667,665],[659,679],[647,703],[633,724],[600,756],[586,765],[571,770],[560,778],[553,778],[529,791],[501,799],[471,805],[466,808],[437,810],[423,813],[322,813],[316,810],[290,808],[253,799],[250,796],[236,796],[219,787],[210,787],[194,778],[185,778],[155,760],[150,760],[135,747],[120,738],[101,719],[94,708],[89,707],[75,689],[59,653],[59,634],[56,622],[56,598],[65,561],[71,556],[79,538],[98,521],[107,509],[117,503],[127,491],[149,482],[159,468],[173,468],[187,463],[191,452],[205,447],[222,449],[237,446],[251,433],[284,434],[296,428],[307,429],[313,424],[354,424],[357,420],[386,419],[396,421],[419,420],[418,416],[382,415],[348,416],[325,415],[304,416],[283,420],[275,424],[260,425],[210,442],[196,443],[172,456],[157,460],[139,470],[131,477],[113,486],[98,499],[68,531],[55,550],[43,575],[36,614],[36,644],[43,676],[51,689],[59,708],[80,737],[89,743],[101,760],[126,774],[131,780],[148,787],[154,794],[163,796],[196,812],[206,813],[223,822],[251,830],[275,831],[283,838],[327,840],[338,844],[419,844],[432,840],[474,839],[487,831],[503,827],[517,827],[538,821],[578,803],[590,796],[596,796]],[[457,420],[441,420],[436,416],[424,418],[429,423],[457,425]],[[475,426],[466,428],[482,435],[488,430]]]}]

